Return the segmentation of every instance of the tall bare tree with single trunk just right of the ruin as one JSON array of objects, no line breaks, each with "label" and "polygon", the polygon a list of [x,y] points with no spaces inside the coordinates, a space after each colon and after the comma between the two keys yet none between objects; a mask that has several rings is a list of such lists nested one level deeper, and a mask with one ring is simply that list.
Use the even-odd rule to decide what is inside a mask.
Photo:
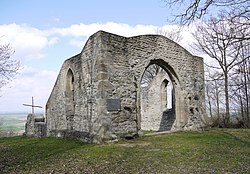
[{"label": "tall bare tree with single trunk just right of the ruin", "polygon": [[249,29],[244,26],[239,27],[238,25],[234,25],[234,21],[231,19],[227,20],[226,17],[221,16],[219,19],[211,18],[207,22],[200,23],[193,36],[197,41],[195,47],[198,51],[206,53],[217,63],[217,65],[209,65],[209,67],[217,69],[223,76],[226,105],[225,125],[227,125],[229,122],[230,110],[230,72],[243,61],[237,60],[243,46],[242,40],[246,40],[244,44],[249,44],[249,40],[247,39],[249,36]]}]

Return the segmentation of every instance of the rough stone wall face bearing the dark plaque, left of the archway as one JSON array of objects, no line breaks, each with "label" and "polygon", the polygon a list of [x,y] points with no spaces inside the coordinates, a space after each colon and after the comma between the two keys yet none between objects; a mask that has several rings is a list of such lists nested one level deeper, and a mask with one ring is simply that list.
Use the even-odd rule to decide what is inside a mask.
[{"label": "rough stone wall face bearing the dark plaque, left of the archway", "polygon": [[[103,107],[100,108],[103,120],[109,131],[117,136],[133,136],[137,133],[137,84],[131,72],[127,57],[127,38],[102,33],[103,57],[97,64],[99,73],[97,96]],[[107,101],[114,99],[120,103],[120,109],[110,111]],[[110,100],[109,100],[110,101]],[[112,101],[112,100],[111,100]],[[112,109],[112,108],[111,108]]]}]

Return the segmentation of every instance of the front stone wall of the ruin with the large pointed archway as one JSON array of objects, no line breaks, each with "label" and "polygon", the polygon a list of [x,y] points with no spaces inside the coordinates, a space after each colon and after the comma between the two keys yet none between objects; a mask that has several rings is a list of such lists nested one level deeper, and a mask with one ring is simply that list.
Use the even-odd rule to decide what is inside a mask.
[{"label": "front stone wall of the ruin with the large pointed archway", "polygon": [[[99,106],[102,106],[99,107],[102,113],[100,118],[105,120],[109,131],[119,135],[134,134],[141,129],[140,81],[150,63],[160,65],[172,75],[178,98],[175,129],[199,129],[203,126],[200,119],[204,114],[202,58],[192,56],[163,36],[124,38],[100,33],[103,57],[99,59],[101,63],[97,63],[100,67],[96,69],[104,70],[99,73],[98,91],[101,91],[101,97],[97,97],[100,99]],[[107,111],[107,99],[120,100],[121,110]],[[100,113],[97,115],[100,116]]]}]

